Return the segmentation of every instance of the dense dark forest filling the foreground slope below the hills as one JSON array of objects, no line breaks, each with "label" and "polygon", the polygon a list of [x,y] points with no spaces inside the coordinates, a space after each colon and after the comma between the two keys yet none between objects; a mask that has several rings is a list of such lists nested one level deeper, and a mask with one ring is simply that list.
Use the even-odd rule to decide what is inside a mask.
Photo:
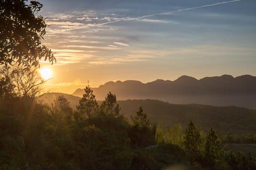
[{"label": "dense dark forest filling the foreground slope below the hills", "polygon": [[63,96],[51,107],[33,97],[7,97],[3,91],[1,96],[1,169],[256,167],[251,154],[223,149],[213,129],[203,132],[193,122],[185,131],[173,128],[173,135],[151,124],[139,107],[128,123],[111,92],[99,105],[86,87],[75,111]]}]

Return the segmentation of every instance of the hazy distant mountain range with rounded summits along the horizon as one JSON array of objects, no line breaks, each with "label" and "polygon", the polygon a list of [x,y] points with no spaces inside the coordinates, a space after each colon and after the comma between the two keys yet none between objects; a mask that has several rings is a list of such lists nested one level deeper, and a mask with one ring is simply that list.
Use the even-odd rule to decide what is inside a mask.
[{"label": "hazy distant mountain range with rounded summits along the horizon", "polygon": [[[148,83],[110,81],[92,89],[99,100],[103,100],[111,91],[120,100],[156,99],[174,104],[256,108],[256,77],[252,75],[236,78],[222,75],[200,80],[183,75],[175,81],[156,80]],[[77,89],[73,95],[81,97],[83,93],[83,89]]]}]

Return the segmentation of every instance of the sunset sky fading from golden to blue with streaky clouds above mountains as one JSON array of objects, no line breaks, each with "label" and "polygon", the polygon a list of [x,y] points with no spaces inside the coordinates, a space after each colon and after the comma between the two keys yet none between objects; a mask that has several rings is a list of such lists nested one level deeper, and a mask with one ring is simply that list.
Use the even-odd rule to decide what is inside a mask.
[{"label": "sunset sky fading from golden to blue with streaky clouds above mountains", "polygon": [[255,0],[42,0],[51,91],[87,81],[256,75]]}]

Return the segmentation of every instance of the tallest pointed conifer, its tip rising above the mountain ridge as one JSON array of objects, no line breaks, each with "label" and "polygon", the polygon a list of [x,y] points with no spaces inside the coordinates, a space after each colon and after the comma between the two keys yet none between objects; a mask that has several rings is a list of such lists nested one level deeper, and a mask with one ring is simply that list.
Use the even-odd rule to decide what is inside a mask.
[{"label": "tallest pointed conifer, its tip rising above the mountain ridge", "polygon": [[84,89],[84,92],[83,97],[79,100],[79,105],[76,107],[79,113],[85,114],[90,119],[92,115],[97,114],[99,111],[99,105],[89,84]]}]

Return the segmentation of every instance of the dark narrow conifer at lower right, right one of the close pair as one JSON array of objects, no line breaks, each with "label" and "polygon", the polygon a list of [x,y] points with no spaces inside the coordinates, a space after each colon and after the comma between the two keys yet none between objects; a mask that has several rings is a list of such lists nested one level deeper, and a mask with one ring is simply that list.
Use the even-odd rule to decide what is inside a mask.
[{"label": "dark narrow conifer at lower right, right one of the close pair", "polygon": [[221,153],[221,142],[219,141],[215,131],[211,128],[210,132],[207,133],[204,147],[205,163],[207,166],[215,169],[215,164],[218,162]]}]

